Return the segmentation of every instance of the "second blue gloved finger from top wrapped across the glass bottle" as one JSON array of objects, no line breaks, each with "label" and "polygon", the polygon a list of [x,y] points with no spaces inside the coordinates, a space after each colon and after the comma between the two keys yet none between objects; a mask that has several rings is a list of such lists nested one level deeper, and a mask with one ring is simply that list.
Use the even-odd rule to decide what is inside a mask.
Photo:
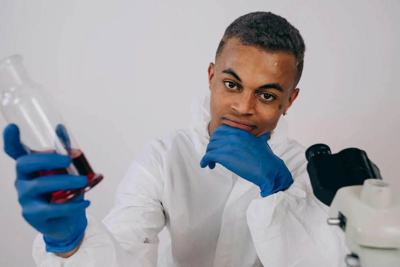
[{"label": "second blue gloved finger from top wrapped across the glass bottle", "polygon": [[83,175],[56,174],[25,180],[22,183],[26,185],[27,194],[42,195],[59,190],[84,188],[87,182],[87,177]]}]

